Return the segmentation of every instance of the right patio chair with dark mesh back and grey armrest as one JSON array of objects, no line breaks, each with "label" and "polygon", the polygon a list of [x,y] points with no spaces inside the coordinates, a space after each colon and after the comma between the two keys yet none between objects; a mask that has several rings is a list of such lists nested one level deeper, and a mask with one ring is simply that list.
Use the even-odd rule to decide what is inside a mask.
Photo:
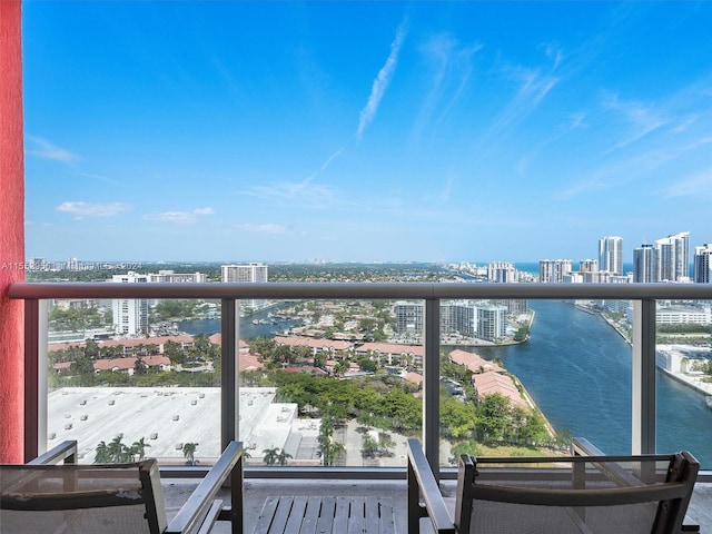
[{"label": "right patio chair with dark mesh back and grey armrest", "polygon": [[[408,533],[680,533],[699,463],[689,453],[541,458],[462,455],[443,497],[417,439],[408,441]],[[421,504],[421,498],[423,504]]]}]

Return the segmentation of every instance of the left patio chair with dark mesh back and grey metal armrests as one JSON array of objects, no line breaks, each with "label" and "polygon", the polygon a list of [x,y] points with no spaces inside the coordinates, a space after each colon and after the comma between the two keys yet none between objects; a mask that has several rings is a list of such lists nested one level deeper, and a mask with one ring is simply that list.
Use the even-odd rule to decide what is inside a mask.
[{"label": "left patio chair with dark mesh back and grey metal armrests", "polygon": [[[241,443],[226,447],[170,522],[156,459],[79,465],[76,442],[68,443],[27,464],[0,466],[2,534],[207,533],[216,521],[243,532]],[[224,484],[231,486],[231,506],[216,498]]]}]

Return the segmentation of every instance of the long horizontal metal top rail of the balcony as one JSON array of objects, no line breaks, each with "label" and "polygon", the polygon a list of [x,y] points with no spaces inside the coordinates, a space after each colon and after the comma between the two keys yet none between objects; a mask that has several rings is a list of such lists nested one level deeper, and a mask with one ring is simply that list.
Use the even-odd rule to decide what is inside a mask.
[{"label": "long horizontal metal top rail of the balcony", "polygon": [[712,300],[712,284],[17,283],[10,298],[266,298],[266,299],[675,299]]}]

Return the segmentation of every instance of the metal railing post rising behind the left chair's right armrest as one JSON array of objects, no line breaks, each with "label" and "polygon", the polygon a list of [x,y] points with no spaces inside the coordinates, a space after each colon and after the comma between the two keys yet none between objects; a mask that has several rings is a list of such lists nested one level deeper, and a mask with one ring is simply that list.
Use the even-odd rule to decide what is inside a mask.
[{"label": "metal railing post rising behind the left chair's right armrest", "polygon": [[239,304],[235,298],[221,299],[220,332],[222,337],[220,375],[220,445],[221,451],[239,438]]}]

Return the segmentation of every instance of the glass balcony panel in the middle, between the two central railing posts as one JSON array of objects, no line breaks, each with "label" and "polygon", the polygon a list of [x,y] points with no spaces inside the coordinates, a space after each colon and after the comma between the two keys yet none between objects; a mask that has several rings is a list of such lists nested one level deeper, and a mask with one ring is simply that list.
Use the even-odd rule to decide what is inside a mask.
[{"label": "glass balcony panel in the middle, between the two central railing posts", "polygon": [[239,436],[248,466],[405,465],[405,441],[422,425],[422,345],[398,338],[393,303],[287,301],[245,319],[240,358],[254,363],[240,364]]}]

